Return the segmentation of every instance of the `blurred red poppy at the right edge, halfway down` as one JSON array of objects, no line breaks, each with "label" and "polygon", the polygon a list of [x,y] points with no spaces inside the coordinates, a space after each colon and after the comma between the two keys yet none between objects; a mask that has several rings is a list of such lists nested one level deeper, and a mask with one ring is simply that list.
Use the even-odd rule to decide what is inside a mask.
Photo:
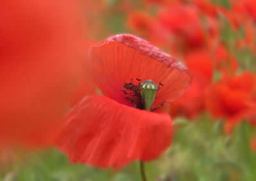
[{"label": "blurred red poppy at the right edge, halfway down", "polygon": [[241,75],[225,77],[213,84],[206,97],[207,110],[215,118],[226,118],[225,130],[243,119],[250,119],[256,109],[255,74],[243,72]]}]

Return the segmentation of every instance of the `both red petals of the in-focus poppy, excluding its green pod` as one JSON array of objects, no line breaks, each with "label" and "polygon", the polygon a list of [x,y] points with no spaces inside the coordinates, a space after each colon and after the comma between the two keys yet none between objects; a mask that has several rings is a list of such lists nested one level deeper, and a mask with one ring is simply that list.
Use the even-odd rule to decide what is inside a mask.
[{"label": "both red petals of the in-focus poppy, excluding its green pod", "polygon": [[[61,150],[72,162],[103,168],[156,159],[171,143],[172,119],[152,111],[188,88],[187,68],[141,38],[116,35],[92,48],[91,74],[104,96],[84,97],[70,111]],[[148,79],[163,85],[151,111],[141,109],[137,89]]]}]

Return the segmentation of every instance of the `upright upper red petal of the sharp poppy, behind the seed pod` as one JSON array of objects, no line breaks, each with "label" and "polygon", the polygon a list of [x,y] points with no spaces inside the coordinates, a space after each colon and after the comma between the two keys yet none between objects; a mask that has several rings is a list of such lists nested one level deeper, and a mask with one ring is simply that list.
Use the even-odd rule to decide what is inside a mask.
[{"label": "upright upper red petal of the sharp poppy, behind the seed pod", "polygon": [[163,87],[157,91],[153,107],[182,94],[191,82],[191,75],[182,63],[150,43],[132,35],[116,35],[92,49],[95,81],[104,95],[129,105],[125,100],[124,83],[136,78],[150,79]]}]

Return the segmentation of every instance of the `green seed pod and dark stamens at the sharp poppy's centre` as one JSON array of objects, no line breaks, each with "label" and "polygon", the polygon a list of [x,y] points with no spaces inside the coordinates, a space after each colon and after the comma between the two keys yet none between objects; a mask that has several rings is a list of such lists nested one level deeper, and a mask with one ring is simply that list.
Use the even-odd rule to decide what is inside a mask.
[{"label": "green seed pod and dark stamens at the sharp poppy's centre", "polygon": [[141,79],[136,79],[138,83],[134,83],[133,79],[131,79],[130,83],[125,83],[125,90],[121,90],[125,94],[125,99],[129,100],[134,107],[138,109],[145,109],[147,111],[154,111],[156,108],[151,109],[154,104],[154,100],[156,98],[157,90],[159,90],[159,86],[163,86],[163,84],[159,83],[157,86],[154,81],[147,80],[140,82]]}]

